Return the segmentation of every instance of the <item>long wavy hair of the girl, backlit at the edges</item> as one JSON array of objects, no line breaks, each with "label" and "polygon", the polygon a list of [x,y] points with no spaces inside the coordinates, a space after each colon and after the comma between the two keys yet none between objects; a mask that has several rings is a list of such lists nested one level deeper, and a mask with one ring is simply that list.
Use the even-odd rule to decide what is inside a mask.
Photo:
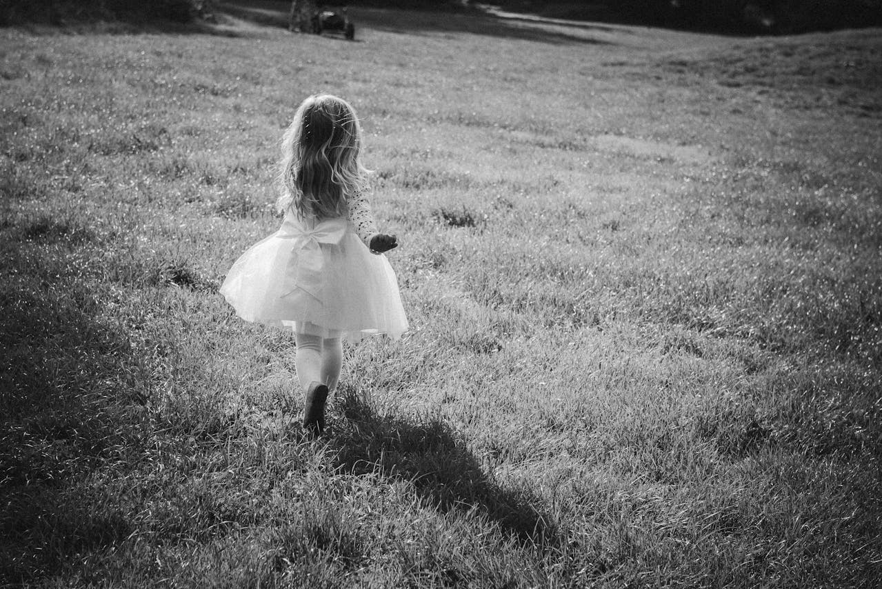
[{"label": "long wavy hair of the girl, backlit at the edges", "polygon": [[331,94],[297,108],[281,143],[279,209],[319,219],[345,214],[346,195],[364,190],[362,128],[355,108]]}]

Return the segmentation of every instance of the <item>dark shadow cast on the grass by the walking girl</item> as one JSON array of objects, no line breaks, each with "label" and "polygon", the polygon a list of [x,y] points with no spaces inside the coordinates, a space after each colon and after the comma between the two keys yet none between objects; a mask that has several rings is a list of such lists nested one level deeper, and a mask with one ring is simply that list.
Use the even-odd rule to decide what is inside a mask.
[{"label": "dark shadow cast on the grass by the walking girl", "polygon": [[412,482],[417,494],[439,511],[476,507],[520,541],[540,546],[556,541],[557,526],[538,507],[541,499],[493,481],[444,421],[379,416],[354,392],[340,392],[345,421],[336,428],[332,444],[348,472],[378,470]]}]

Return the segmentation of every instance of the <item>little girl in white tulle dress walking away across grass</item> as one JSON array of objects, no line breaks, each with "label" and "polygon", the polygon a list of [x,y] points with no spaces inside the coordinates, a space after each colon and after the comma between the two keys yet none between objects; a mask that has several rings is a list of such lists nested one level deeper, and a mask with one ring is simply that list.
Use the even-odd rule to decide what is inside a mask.
[{"label": "little girl in white tulle dress walking away across grass", "polygon": [[281,227],[236,260],[221,294],[246,321],[294,331],[306,396],[303,427],[325,429],[325,399],[340,377],[340,339],[407,331],[398,284],[364,196],[362,130],[348,102],[310,96],[282,141]]}]

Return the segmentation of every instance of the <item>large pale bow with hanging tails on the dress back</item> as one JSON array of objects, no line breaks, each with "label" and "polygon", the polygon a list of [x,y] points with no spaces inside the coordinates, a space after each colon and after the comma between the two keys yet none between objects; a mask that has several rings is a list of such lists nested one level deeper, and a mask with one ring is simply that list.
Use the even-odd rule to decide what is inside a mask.
[{"label": "large pale bow with hanging tails on the dress back", "polygon": [[[309,226],[312,225],[310,228]],[[279,229],[277,237],[292,240],[291,262],[285,272],[282,296],[288,296],[300,289],[310,296],[322,300],[325,286],[325,257],[322,243],[340,243],[346,234],[347,220],[336,219],[295,220],[287,217]]]}]

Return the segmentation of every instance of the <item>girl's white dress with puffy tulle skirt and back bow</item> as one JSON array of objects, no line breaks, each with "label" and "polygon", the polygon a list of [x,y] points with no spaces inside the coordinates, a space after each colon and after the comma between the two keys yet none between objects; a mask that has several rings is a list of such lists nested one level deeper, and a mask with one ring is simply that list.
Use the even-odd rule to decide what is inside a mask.
[{"label": "girl's white dress with puffy tulle skirt and back bow", "polygon": [[348,216],[317,220],[285,214],[278,231],[245,251],[221,295],[246,321],[358,340],[407,331],[398,282],[382,254],[367,198],[348,198]]}]

